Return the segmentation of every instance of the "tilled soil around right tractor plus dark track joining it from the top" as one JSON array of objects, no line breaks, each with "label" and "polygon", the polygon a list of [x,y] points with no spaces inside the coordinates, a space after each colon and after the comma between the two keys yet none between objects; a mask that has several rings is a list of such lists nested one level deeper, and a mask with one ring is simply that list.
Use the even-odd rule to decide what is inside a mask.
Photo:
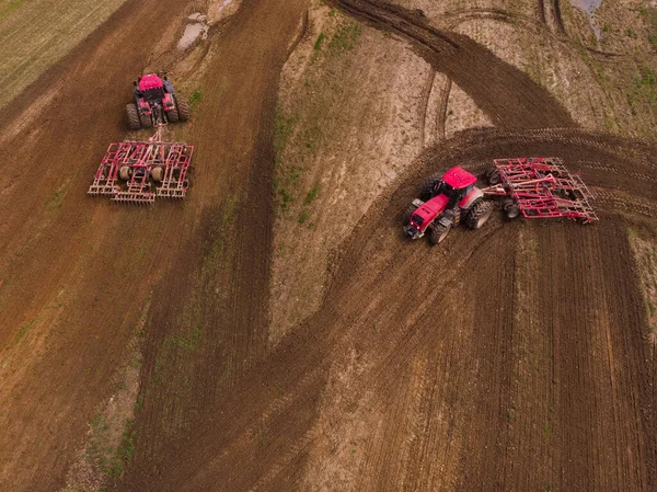
[{"label": "tilled soil around right tractor plus dark track joining it from the top", "polygon": [[[525,75],[413,13],[334,3],[408,39],[502,128],[424,152],[336,255],[322,308],[126,490],[653,490],[657,366],[626,228],[657,206],[655,148],[564,128]],[[473,67],[500,80],[484,90]],[[401,237],[424,176],[503,156],[579,169],[600,224]]]}]

